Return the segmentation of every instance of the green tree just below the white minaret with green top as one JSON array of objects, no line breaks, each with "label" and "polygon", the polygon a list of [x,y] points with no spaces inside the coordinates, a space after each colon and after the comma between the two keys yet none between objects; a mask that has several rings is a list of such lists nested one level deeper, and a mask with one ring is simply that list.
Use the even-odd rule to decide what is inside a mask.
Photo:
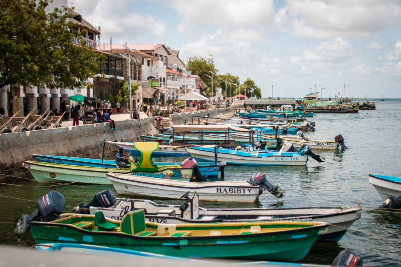
[{"label": "green tree just below the white minaret with green top", "polygon": [[[212,64],[209,64],[204,58],[202,57],[190,57],[188,59],[187,63],[188,69],[191,71],[192,75],[198,75],[204,83],[209,86],[210,88],[212,87],[212,79],[209,78],[206,75],[209,75],[212,77],[213,73],[218,73],[219,70],[215,68]],[[220,80],[218,79],[217,75],[213,76],[213,95],[216,95],[216,87],[219,87],[220,85]]]}]

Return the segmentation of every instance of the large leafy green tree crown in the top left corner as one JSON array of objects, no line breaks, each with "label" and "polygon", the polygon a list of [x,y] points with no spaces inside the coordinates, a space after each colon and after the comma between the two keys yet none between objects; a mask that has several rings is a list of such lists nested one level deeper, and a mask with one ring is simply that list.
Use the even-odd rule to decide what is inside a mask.
[{"label": "large leafy green tree crown in the top left corner", "polygon": [[[66,23],[67,8],[52,10],[51,0],[0,1],[0,87],[12,85],[83,88],[106,57],[82,41]],[[70,33],[70,31],[72,33]]]}]

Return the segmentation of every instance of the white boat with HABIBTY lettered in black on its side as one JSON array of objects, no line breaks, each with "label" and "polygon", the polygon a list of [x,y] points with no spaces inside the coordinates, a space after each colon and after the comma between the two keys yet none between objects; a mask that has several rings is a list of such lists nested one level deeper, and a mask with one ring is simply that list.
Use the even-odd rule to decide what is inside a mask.
[{"label": "white boat with HABIBTY lettered in black on its side", "polygon": [[112,172],[106,177],[119,194],[157,198],[180,199],[186,192],[197,192],[199,199],[205,201],[255,202],[261,190],[245,181],[195,183]]}]

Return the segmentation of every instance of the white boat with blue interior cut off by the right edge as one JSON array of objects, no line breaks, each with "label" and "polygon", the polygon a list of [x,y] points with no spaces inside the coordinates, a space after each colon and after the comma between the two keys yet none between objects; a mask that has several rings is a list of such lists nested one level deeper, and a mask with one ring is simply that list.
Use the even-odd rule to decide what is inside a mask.
[{"label": "white boat with blue interior cut off by the right edge", "polygon": [[389,196],[401,195],[401,177],[369,174],[369,183],[376,188],[380,197],[386,200]]}]

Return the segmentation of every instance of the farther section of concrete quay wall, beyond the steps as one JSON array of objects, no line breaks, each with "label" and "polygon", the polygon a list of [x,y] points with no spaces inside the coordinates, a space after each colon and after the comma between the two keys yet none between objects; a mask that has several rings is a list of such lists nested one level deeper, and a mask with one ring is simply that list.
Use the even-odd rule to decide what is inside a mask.
[{"label": "farther section of concrete quay wall, beyond the steps", "polygon": [[[176,113],[176,114],[170,114],[169,118],[173,122],[174,125],[183,125],[185,124],[191,124],[192,122],[192,117],[193,117],[193,124],[197,124],[198,118],[195,118],[195,116],[200,116],[200,117],[206,117],[206,115],[210,114],[211,118],[220,118],[220,119],[228,119],[232,118],[235,116],[235,110],[236,108],[239,108],[242,106],[237,106],[237,107],[228,107],[228,108],[220,108],[220,109],[208,109],[208,110],[199,110],[199,111],[193,111],[193,112],[186,112],[186,113]],[[200,118],[200,121],[204,120],[204,118]],[[212,119],[209,121],[213,121]],[[203,124],[203,123],[201,123]]]}]

